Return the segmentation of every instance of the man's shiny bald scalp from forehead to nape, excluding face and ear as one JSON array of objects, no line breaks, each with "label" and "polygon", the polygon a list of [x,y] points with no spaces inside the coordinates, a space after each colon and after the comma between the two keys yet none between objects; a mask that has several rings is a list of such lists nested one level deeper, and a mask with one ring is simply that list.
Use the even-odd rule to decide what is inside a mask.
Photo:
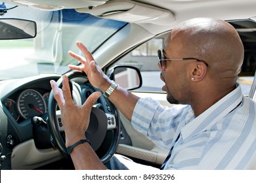
[{"label": "man's shiny bald scalp from forehead to nape, excluding face and ear", "polygon": [[185,56],[202,59],[209,75],[234,78],[240,73],[244,46],[234,27],[213,18],[194,18],[179,24],[169,41],[179,38]]}]

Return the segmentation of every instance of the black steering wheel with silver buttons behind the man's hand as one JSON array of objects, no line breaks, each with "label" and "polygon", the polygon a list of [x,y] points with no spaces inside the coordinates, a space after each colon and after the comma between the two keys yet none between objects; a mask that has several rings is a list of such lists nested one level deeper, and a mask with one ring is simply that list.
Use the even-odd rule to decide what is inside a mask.
[{"label": "black steering wheel with silver buttons behind the man's hand", "polygon": [[[72,90],[72,97],[76,104],[84,103],[91,93],[100,91],[89,83],[83,72],[72,71],[66,75],[70,80],[70,90]],[[62,88],[62,77],[58,79],[57,84],[59,88]],[[65,158],[70,158],[66,150],[60,110],[54,99],[53,91],[49,95],[48,116],[47,125],[51,131],[53,143]],[[95,150],[102,163],[108,162],[116,152],[119,133],[120,122],[117,109],[107,98],[101,95],[91,110],[90,123],[85,132],[85,137],[91,142],[93,150]]]}]

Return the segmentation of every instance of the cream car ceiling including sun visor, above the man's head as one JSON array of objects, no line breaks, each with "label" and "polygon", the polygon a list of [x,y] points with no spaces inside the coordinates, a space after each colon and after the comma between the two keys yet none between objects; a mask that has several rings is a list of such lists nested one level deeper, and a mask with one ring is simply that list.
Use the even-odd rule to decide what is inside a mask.
[{"label": "cream car ceiling including sun visor, above the man's head", "polygon": [[[175,25],[184,20],[194,17],[216,17],[223,20],[233,20],[237,18],[249,18],[255,16],[255,0],[7,0],[6,3],[12,3],[15,5],[26,5],[32,8],[41,8],[42,10],[51,10],[51,8],[76,8],[79,11],[90,12],[91,14],[97,14],[102,16],[106,13],[104,10],[112,13],[112,18],[123,20],[124,16],[127,17],[128,22],[137,22],[134,18],[141,18],[141,16],[148,16],[152,24],[159,24],[158,22],[165,22],[165,25]],[[140,8],[137,11],[132,9],[136,5],[148,7],[151,11],[144,12]],[[154,6],[154,8],[150,6]],[[108,7],[108,8],[106,8]],[[163,16],[158,17],[158,8],[169,12]],[[239,8],[238,8],[239,7]],[[100,9],[102,14],[99,14]],[[125,14],[125,11],[127,12]],[[234,13],[237,12],[237,13]],[[119,14],[122,13],[122,16]],[[131,13],[138,16],[131,16]],[[116,15],[116,17],[114,16]],[[139,16],[140,15],[140,16]],[[163,21],[164,18],[173,18]],[[106,16],[104,16],[107,18]],[[158,21],[156,21],[158,20]],[[139,24],[143,22],[138,21]],[[150,24],[150,21],[146,21],[144,24]]]}]

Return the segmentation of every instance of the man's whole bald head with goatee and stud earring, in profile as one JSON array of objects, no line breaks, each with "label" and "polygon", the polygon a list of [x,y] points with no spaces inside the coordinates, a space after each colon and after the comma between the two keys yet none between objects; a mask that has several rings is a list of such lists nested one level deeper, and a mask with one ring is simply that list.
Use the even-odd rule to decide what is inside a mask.
[{"label": "man's whole bald head with goatee and stud earring, in profile", "polygon": [[[234,27],[214,18],[194,18],[175,27],[164,46],[161,78],[170,103],[188,104],[195,116],[236,88],[244,46]],[[195,58],[195,59],[194,59]]]}]

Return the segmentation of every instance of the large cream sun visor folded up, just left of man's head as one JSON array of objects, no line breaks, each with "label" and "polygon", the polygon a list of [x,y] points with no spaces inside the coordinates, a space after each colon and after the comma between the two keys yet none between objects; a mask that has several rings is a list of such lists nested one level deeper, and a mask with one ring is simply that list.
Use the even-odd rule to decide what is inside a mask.
[{"label": "large cream sun visor folded up, just left of man's head", "polygon": [[[84,12],[123,22],[150,23],[156,25],[171,25],[175,16],[169,11],[152,7],[135,1],[107,1],[104,5],[92,8],[77,8],[77,12]],[[150,14],[148,13],[150,12]]]}]

